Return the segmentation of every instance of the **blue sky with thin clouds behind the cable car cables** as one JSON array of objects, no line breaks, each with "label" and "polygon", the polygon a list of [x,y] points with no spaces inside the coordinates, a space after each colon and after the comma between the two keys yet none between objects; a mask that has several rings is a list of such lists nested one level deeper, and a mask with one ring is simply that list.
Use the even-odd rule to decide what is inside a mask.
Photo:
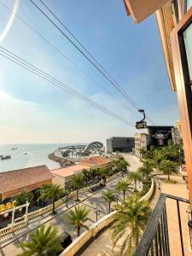
[{"label": "blue sky with thin clouds behind the cable car cables", "polygon": [[[44,9],[39,0],[34,2]],[[44,2],[156,125],[175,124],[177,96],[167,77],[154,15],[135,25],[123,1]],[[63,55],[2,3],[15,9]],[[142,118],[137,109],[29,0],[0,0],[0,44],[132,124],[90,107],[0,55],[0,143],[104,142],[107,137],[133,137],[137,132],[135,122]]]}]

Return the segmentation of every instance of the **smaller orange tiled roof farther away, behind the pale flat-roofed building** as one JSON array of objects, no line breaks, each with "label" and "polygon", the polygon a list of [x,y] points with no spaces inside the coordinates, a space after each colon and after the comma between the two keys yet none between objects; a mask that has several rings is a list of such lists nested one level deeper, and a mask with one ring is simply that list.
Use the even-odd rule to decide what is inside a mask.
[{"label": "smaller orange tiled roof farther away, behind the pale flat-roofed building", "polygon": [[102,156],[91,156],[80,160],[80,164],[84,166],[104,166],[111,162],[110,159]]}]

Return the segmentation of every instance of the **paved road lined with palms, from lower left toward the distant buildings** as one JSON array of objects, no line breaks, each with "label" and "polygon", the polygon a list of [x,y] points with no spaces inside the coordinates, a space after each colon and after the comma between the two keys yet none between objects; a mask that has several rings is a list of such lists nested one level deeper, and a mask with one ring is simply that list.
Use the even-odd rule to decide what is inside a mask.
[{"label": "paved road lined with palms, from lower left toward the distant buildings", "polygon": [[[137,171],[137,167],[141,166],[141,163],[137,158],[133,155],[124,154],[124,157],[126,160],[128,160],[131,164],[131,172]],[[114,189],[115,184],[118,182],[118,180],[122,177],[116,177],[112,181],[110,181],[107,184],[107,187],[104,189],[101,189],[96,192],[96,194],[92,194],[90,192],[84,192],[83,194],[79,195],[79,199],[82,202],[79,202],[79,205],[84,205],[88,208],[90,208],[90,214],[89,218],[90,221],[86,223],[87,226],[90,226],[91,224],[96,222],[96,213],[94,211],[95,207],[98,207],[100,209],[100,215],[99,218],[102,218],[104,215],[108,214],[108,203],[103,200],[103,194],[107,189]],[[52,215],[50,215],[50,212],[45,213],[43,216],[38,216],[37,218],[33,218],[29,220],[29,225],[26,228],[16,230],[14,233],[3,236],[0,238],[0,247],[7,244],[9,241],[14,240],[15,238],[18,238],[21,235],[24,235],[27,231],[30,231],[34,228],[36,228],[39,224],[43,224],[46,221],[49,221],[47,224],[54,224],[59,229],[59,232],[62,232],[63,230],[67,230],[72,236],[73,239],[77,237],[76,230],[73,229],[73,227],[68,226],[67,220],[65,219],[65,216],[67,215],[67,211],[69,208],[73,209],[73,205],[76,203],[75,198],[68,201],[68,208],[66,206],[60,206],[57,208],[57,212],[61,213],[56,218],[53,218]],[[112,205],[113,207],[113,205]],[[53,219],[51,219],[53,218]],[[82,230],[83,232],[84,230]],[[21,250],[16,247],[16,245],[23,240],[26,240],[27,236],[22,236],[19,240],[14,241],[10,243],[7,247],[4,247],[0,250],[0,255],[2,256],[9,256],[9,255],[16,255],[17,253],[20,253]]]}]

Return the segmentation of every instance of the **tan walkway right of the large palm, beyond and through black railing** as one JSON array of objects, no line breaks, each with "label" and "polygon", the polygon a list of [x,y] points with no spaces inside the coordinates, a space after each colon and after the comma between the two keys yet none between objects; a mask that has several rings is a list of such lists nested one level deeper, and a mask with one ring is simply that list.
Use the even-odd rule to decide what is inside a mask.
[{"label": "tan walkway right of the large palm, beyond and through black railing", "polygon": [[[161,193],[176,195],[185,199],[189,199],[188,190],[185,188],[183,178],[179,174],[172,175],[171,179],[176,181],[176,184],[165,183],[164,180],[167,178],[165,175],[155,176],[154,180],[156,183],[156,191],[153,200],[150,202],[152,208],[155,207],[156,202],[160,197]],[[159,190],[160,183],[160,190]],[[189,204],[179,202],[181,224],[183,231],[183,246],[185,255],[189,255],[189,229],[188,229],[188,214]],[[170,251],[172,256],[182,255],[181,243],[179,236],[178,218],[177,218],[177,202],[172,199],[166,199],[166,212],[168,222],[168,232],[170,241]]]}]

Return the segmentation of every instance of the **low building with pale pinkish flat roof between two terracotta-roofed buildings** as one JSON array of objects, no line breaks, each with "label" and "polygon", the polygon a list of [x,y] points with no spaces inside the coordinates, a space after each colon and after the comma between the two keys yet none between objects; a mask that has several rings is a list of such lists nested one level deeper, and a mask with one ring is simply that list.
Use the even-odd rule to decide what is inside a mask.
[{"label": "low building with pale pinkish flat roof between two terracotta-roofed buildings", "polygon": [[81,173],[83,169],[88,168],[88,166],[76,165],[52,170],[51,172],[54,176],[53,183],[61,186],[63,189],[66,189],[73,175]]}]

